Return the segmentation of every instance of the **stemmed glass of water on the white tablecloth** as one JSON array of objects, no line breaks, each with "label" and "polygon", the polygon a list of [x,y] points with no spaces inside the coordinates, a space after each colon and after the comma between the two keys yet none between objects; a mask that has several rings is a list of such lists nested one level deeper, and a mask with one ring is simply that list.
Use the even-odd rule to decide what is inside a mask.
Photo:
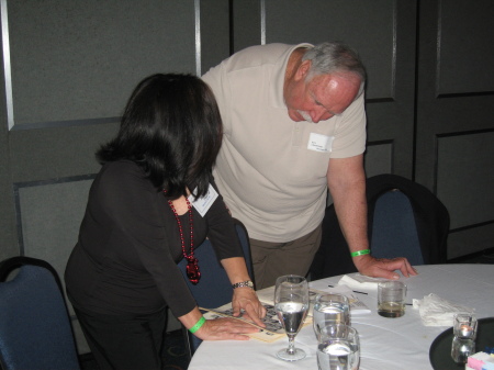
[{"label": "stemmed glass of water on the white tablecloth", "polygon": [[274,310],[289,337],[289,347],[277,352],[278,358],[296,361],[305,357],[305,351],[295,348],[299,333],[308,311],[308,284],[303,277],[287,274],[277,279]]}]

